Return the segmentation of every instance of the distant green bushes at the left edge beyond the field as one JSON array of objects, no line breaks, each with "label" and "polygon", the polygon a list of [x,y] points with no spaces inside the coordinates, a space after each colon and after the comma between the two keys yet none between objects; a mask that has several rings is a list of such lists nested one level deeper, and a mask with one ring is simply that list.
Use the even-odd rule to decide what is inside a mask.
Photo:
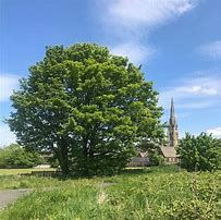
[{"label": "distant green bushes at the left edge beyond the field", "polygon": [[38,152],[27,151],[16,144],[0,149],[1,168],[32,168],[40,162],[41,159]]}]

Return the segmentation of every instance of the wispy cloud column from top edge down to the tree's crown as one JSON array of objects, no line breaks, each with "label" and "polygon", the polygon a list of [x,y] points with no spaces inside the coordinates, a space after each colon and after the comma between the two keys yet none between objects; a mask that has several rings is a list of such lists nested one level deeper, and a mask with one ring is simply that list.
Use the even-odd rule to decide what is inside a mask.
[{"label": "wispy cloud column from top edge down to the tree's crown", "polygon": [[126,54],[135,63],[150,59],[156,51],[151,46],[146,46],[150,30],[193,10],[198,2],[199,0],[99,0],[103,26],[111,30],[109,36],[118,36],[112,52]]}]

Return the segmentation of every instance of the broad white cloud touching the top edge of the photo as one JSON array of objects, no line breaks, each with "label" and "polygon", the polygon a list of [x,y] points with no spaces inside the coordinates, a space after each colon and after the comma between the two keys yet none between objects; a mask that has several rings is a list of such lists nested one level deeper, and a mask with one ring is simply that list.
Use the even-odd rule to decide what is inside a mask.
[{"label": "broad white cloud touching the top edge of the photo", "polygon": [[108,3],[109,22],[126,28],[154,27],[191,11],[197,0],[113,0]]}]

